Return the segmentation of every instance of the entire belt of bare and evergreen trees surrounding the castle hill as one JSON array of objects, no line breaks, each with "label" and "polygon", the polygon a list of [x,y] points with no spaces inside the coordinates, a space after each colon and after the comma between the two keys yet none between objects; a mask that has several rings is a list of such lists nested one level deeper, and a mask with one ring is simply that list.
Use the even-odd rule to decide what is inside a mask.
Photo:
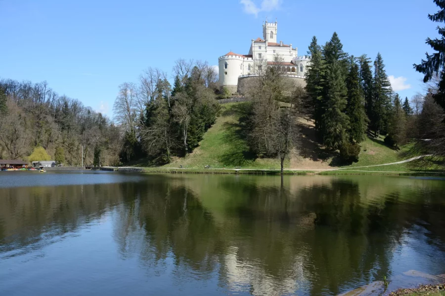
[{"label": "entire belt of bare and evergreen trees surrounding the castle hill", "polygon": [[[444,22],[445,3],[435,2],[441,10],[429,18]],[[438,31],[445,37],[445,29]],[[324,45],[312,38],[305,87],[289,83],[279,56],[272,65],[258,63],[240,119],[251,152],[280,159],[283,170],[284,159],[299,149],[296,122],[306,116],[314,122],[318,142],[338,153],[342,164],[358,161],[366,137],[382,136],[390,148],[405,146],[407,154],[443,161],[445,39],[428,38],[426,43],[435,53],[413,65],[425,74],[426,93],[410,100],[392,90],[380,53],[374,61],[364,54],[350,55],[337,33]],[[171,74],[149,67],[137,82],[119,85],[111,120],[59,96],[45,81],[2,79],[0,158],[30,159],[43,148],[45,157],[66,165],[79,165],[82,159],[121,165],[141,158],[166,164],[199,146],[220,114],[218,99],[228,95],[209,63],[178,59]]]}]

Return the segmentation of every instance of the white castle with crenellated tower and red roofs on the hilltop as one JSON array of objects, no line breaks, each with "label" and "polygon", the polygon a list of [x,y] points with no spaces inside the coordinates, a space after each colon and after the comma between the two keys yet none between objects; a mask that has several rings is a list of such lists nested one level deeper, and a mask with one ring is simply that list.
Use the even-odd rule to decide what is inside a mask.
[{"label": "white castle with crenellated tower and red roofs on the hilltop", "polygon": [[277,22],[263,23],[263,39],[252,39],[249,54],[236,54],[228,52],[219,57],[220,86],[228,88],[232,93],[238,91],[241,79],[256,76],[254,67],[262,67],[262,64],[274,64],[274,57],[280,56],[282,71],[286,76],[301,80],[305,83],[306,67],[310,62],[307,56],[298,56],[297,47],[292,43],[287,45],[283,41],[277,43]]}]

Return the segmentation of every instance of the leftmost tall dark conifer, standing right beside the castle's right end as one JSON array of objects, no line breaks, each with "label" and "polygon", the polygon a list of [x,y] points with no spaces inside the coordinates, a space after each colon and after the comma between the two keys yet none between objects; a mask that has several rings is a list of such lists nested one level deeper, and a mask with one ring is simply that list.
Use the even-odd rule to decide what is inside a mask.
[{"label": "leftmost tall dark conifer, standing right beside the castle's right end", "polygon": [[312,118],[315,121],[315,130],[320,130],[321,117],[323,111],[323,76],[324,60],[321,55],[321,47],[317,44],[317,38],[312,37],[308,54],[311,55],[311,63],[308,65],[306,73],[306,91],[313,104]]}]

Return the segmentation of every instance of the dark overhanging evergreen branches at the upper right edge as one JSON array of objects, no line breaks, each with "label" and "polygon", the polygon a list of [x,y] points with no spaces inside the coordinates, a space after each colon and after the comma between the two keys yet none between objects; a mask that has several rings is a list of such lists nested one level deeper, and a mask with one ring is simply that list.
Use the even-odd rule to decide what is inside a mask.
[{"label": "dark overhanging evergreen branches at the upper right edge", "polygon": [[[445,0],[433,0],[440,10],[435,14],[429,14],[428,18],[433,22],[445,22]],[[430,45],[436,52],[426,54],[426,59],[419,65],[414,64],[417,72],[425,74],[423,82],[428,82],[440,72],[439,90],[433,95],[434,100],[445,110],[445,27],[437,27],[440,38],[427,38],[426,44]]]}]

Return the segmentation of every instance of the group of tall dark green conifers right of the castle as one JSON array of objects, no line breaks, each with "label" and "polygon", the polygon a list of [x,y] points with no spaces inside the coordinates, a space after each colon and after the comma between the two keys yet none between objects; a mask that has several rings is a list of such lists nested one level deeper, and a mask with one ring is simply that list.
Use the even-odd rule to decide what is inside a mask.
[{"label": "group of tall dark green conifers right of the castle", "polygon": [[326,148],[340,150],[345,162],[358,160],[359,143],[368,133],[398,148],[406,142],[406,120],[411,114],[391,88],[382,55],[372,62],[365,54],[354,57],[343,50],[337,33],[325,45],[313,37],[308,54],[306,90],[311,117]]}]

